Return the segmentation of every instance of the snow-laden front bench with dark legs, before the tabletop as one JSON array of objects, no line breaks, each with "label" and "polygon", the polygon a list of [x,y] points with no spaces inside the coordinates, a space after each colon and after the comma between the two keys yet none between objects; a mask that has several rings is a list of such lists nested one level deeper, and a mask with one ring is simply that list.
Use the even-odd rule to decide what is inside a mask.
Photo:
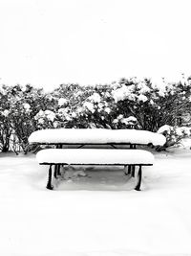
[{"label": "snow-laden front bench with dark legs, before the tabletop", "polygon": [[49,166],[47,189],[53,190],[52,175],[60,175],[62,165],[107,165],[128,166],[126,175],[135,175],[135,167],[138,166],[138,181],[135,190],[140,190],[142,178],[142,166],[152,166],[154,156],[149,151],[142,150],[109,150],[109,149],[47,149],[36,154],[40,165]]}]

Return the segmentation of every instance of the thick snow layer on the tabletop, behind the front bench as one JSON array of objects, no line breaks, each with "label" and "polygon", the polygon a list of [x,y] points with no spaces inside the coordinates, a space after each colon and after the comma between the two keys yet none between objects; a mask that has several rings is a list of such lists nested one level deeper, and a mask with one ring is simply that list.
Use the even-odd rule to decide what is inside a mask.
[{"label": "thick snow layer on the tabletop, behind the front bench", "polygon": [[32,132],[30,143],[112,144],[131,143],[162,146],[166,142],[162,134],[138,129],[105,128],[53,128]]}]

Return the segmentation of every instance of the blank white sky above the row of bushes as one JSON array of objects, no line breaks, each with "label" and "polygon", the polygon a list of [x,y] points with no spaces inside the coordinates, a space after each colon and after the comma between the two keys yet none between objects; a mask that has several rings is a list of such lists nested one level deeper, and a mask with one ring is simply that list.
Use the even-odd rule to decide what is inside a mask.
[{"label": "blank white sky above the row of bushes", "polygon": [[190,0],[0,0],[0,83],[191,75]]}]

